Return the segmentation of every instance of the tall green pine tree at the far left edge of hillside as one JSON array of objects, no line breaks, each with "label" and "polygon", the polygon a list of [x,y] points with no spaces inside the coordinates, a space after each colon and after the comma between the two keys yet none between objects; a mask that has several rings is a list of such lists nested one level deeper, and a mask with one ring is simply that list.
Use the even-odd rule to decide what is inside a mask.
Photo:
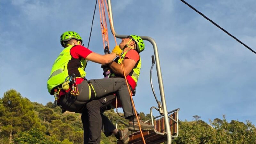
[{"label": "tall green pine tree at the far left edge of hillside", "polygon": [[40,120],[33,111],[32,103],[23,98],[16,90],[9,90],[4,93],[3,104],[0,109],[0,121],[2,122],[1,137],[9,137],[12,142],[13,135],[20,131],[27,131],[31,128],[44,130]]}]

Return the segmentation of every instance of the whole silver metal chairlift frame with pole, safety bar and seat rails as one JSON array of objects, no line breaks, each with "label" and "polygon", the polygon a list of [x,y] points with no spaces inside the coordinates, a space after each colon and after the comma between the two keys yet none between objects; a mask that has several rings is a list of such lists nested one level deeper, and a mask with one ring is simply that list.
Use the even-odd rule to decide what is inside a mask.
[{"label": "whole silver metal chairlift frame with pole, safety bar and seat rails", "polygon": [[[109,11],[109,15],[110,15],[110,23],[112,23],[112,27],[111,27],[111,32],[112,34],[115,34],[115,36],[117,38],[126,38],[127,35],[119,35],[115,32],[114,30],[114,23],[113,23],[113,16],[112,16],[112,7],[111,7],[111,0],[108,0],[108,11]],[[111,24],[110,24],[111,25]],[[160,96],[161,96],[161,101],[162,101],[162,105],[161,103],[158,102],[156,96],[155,96],[155,93],[154,93],[154,89],[153,89],[153,85],[152,85],[152,79],[151,79],[151,76],[150,76],[150,80],[151,80],[151,87],[152,87],[152,90],[153,90],[153,93],[154,93],[154,96],[156,98],[156,101],[158,103],[158,108],[156,107],[151,107],[150,108],[150,115],[151,115],[151,121],[153,122],[153,115],[152,115],[152,109],[156,109],[159,111],[159,113],[161,114],[160,116],[164,116],[164,124],[165,124],[165,131],[164,134],[163,133],[160,133],[160,132],[157,132],[155,131],[157,134],[161,134],[161,135],[166,135],[167,137],[167,143],[166,144],[171,144],[172,143],[172,137],[177,137],[178,134],[176,136],[172,136],[171,135],[171,130],[170,130],[170,124],[169,124],[169,116],[168,116],[168,112],[167,112],[167,107],[166,107],[166,100],[165,100],[165,94],[164,94],[164,85],[163,85],[163,79],[162,79],[162,73],[161,73],[161,67],[160,67],[160,62],[159,62],[159,56],[158,56],[158,48],[157,48],[157,45],[156,45],[156,42],[154,41],[153,38],[151,37],[148,37],[148,36],[140,36],[143,40],[146,40],[146,41],[149,41],[152,45],[153,45],[153,49],[154,49],[154,55],[155,55],[155,60],[156,60],[156,72],[157,72],[157,78],[158,78],[158,84],[159,84],[159,90],[160,90]],[[152,57],[152,61],[153,61],[153,57]],[[153,67],[153,65],[152,65]],[[151,68],[152,69],[152,68]],[[152,70],[151,70],[152,72]],[[175,109],[171,112],[174,112],[174,111],[177,111],[177,121],[178,121],[178,111],[180,109]],[[160,117],[159,116],[159,117]],[[155,117],[156,118],[156,117]],[[150,120],[149,120],[150,121]],[[152,123],[154,125],[154,123]],[[178,123],[177,123],[178,125]],[[178,127],[177,127],[178,129]]]}]

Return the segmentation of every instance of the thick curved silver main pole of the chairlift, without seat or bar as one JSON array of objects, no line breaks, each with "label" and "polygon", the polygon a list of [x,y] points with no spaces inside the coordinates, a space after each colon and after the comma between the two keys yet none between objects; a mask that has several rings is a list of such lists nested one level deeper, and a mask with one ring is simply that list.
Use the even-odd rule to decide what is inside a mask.
[{"label": "thick curved silver main pole of the chairlift, without seat or bar", "polygon": [[[108,0],[108,10],[109,10],[109,14],[110,14],[110,23],[112,23],[112,26],[113,26],[113,27],[111,27],[112,34],[115,34],[115,36],[117,38],[126,38],[127,35],[118,35],[114,30],[114,23],[113,23],[112,8],[111,8],[110,0]],[[171,130],[170,130],[169,119],[168,119],[168,112],[167,112],[167,108],[166,108],[164,85],[163,85],[163,80],[162,80],[162,73],[161,73],[161,68],[160,68],[157,45],[156,45],[156,42],[154,41],[154,39],[152,39],[151,37],[148,37],[148,36],[140,36],[140,37],[143,40],[149,41],[153,45],[153,48],[154,48],[154,55],[156,58],[156,72],[157,72],[159,90],[160,90],[160,95],[161,95],[161,101],[162,101],[162,105],[163,105],[164,124],[165,124],[166,136],[167,136],[166,144],[171,144],[172,137],[171,137]]]}]

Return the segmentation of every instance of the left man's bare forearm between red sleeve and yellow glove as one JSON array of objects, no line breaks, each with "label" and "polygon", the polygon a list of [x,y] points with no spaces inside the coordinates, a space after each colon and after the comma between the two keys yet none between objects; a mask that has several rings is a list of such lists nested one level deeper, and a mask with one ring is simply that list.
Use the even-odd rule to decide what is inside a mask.
[{"label": "left man's bare forearm between red sleeve and yellow glove", "polygon": [[92,52],[86,57],[86,59],[100,64],[108,64],[112,62],[115,59],[115,57],[116,53],[100,55],[95,52]]}]

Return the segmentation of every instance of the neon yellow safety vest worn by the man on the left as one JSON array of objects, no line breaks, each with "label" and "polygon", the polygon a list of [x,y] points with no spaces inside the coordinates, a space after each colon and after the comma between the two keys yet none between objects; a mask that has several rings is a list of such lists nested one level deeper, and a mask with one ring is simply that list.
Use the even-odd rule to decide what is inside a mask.
[{"label": "neon yellow safety vest worn by the man on the left", "polygon": [[[70,55],[70,49],[72,47],[73,46],[68,46],[64,50],[62,50],[62,52],[60,52],[60,55],[57,57],[57,59],[52,65],[52,70],[47,80],[47,89],[50,94],[53,94],[51,93],[51,91],[54,87],[59,86],[60,84],[63,84],[65,81],[65,78],[69,75],[70,76],[72,75],[72,74],[68,74],[68,62],[72,59],[72,56]],[[79,60],[79,63],[76,65],[77,65],[77,68],[74,68],[74,69],[77,69],[80,73],[80,76],[77,76],[77,74],[76,76],[85,77],[86,72],[84,71],[84,68],[86,66],[86,60],[81,58]]]}]

